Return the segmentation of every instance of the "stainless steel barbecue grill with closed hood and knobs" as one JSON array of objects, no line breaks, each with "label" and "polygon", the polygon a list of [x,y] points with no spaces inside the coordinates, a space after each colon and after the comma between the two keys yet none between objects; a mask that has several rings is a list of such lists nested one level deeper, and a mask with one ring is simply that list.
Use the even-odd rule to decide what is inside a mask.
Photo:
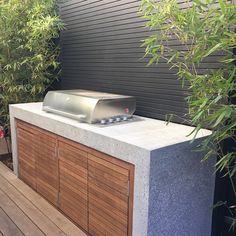
[{"label": "stainless steel barbecue grill with closed hood and knobs", "polygon": [[113,123],[127,120],[136,109],[132,96],[89,90],[50,91],[43,110],[87,123]]}]

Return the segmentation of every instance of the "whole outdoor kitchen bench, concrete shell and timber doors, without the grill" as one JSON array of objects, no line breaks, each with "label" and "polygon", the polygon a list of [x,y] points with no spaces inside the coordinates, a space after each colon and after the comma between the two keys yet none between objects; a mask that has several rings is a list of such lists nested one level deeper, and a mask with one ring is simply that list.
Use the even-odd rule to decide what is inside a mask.
[{"label": "whole outdoor kitchen bench, concrete shell and timber doors, without the grill", "polygon": [[[10,118],[15,174],[22,178],[22,169],[23,180],[36,191],[41,186],[41,195],[80,222],[78,212],[84,217],[78,225],[91,235],[210,236],[215,160],[200,163],[192,150],[209,131],[190,144],[189,126],[143,117],[109,126],[79,123],[42,111],[42,103],[11,105]],[[47,170],[56,177],[45,188]],[[83,183],[78,191],[75,178]],[[62,204],[63,191],[78,206]]]}]

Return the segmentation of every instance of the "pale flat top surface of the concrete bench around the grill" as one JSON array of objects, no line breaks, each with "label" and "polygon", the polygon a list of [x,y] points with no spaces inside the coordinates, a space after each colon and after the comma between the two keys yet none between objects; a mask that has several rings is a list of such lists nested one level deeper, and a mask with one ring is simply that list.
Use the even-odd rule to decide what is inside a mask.
[{"label": "pale flat top surface of the concrete bench around the grill", "polygon": [[[133,145],[147,151],[153,151],[180,142],[190,141],[192,139],[192,137],[188,137],[188,135],[193,130],[193,127],[175,123],[169,123],[166,125],[165,121],[138,116],[136,116],[137,119],[133,122],[123,122],[114,125],[102,126],[96,124],[80,123],[70,118],[42,111],[42,103],[11,105],[10,109],[14,109],[15,112],[17,110],[21,110],[20,113],[25,112],[25,114],[22,113],[22,118],[32,124],[35,124],[35,122],[37,123],[37,121],[33,119],[34,116],[35,118],[47,118],[51,121],[53,120],[57,121],[58,123],[67,124],[70,127],[76,128],[77,130],[83,132],[92,132],[96,135],[100,135],[102,138],[114,139],[126,145]],[[27,114],[34,116],[27,116]],[[40,127],[44,128],[43,126],[44,125],[42,124]],[[64,132],[60,130],[60,127],[58,127],[58,130],[56,130],[55,127],[47,127],[47,124],[45,124],[45,129],[64,136]],[[207,136],[209,134],[210,131],[201,130],[198,133],[198,138]],[[80,143],[84,143],[84,140],[78,140],[78,137],[71,136],[70,138],[74,139],[75,141],[79,141]],[[88,143],[86,142],[86,144]]]}]

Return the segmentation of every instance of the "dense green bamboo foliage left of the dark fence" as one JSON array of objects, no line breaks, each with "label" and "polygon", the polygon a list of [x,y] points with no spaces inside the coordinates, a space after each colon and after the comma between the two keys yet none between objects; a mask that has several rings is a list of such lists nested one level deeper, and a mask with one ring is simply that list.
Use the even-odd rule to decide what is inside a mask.
[{"label": "dense green bamboo foliage left of the dark fence", "polygon": [[0,124],[6,130],[8,105],[40,101],[57,79],[62,28],[55,0],[0,1]]}]

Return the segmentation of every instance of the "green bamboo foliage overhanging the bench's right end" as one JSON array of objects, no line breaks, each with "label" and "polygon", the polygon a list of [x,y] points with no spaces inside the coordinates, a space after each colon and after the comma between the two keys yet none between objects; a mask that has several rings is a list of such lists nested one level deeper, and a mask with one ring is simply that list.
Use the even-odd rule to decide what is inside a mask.
[{"label": "green bamboo foliage overhanging the bench's right end", "polygon": [[[212,134],[199,149],[207,154],[203,158],[219,155],[218,171],[230,176],[236,198],[234,180],[236,152],[222,150],[222,143],[236,143],[236,97],[235,25],[236,7],[229,1],[193,0],[184,1],[181,9],[177,0],[142,0],[141,11],[147,27],[157,31],[147,38],[143,46],[149,65],[165,60],[177,68],[178,77],[190,84],[191,95],[187,98],[189,115],[195,126],[195,136],[204,127]],[[171,44],[177,39],[181,47]],[[208,56],[216,57],[218,69],[199,69]],[[235,217],[235,216],[234,216]],[[234,219],[236,220],[236,219]]]}]

